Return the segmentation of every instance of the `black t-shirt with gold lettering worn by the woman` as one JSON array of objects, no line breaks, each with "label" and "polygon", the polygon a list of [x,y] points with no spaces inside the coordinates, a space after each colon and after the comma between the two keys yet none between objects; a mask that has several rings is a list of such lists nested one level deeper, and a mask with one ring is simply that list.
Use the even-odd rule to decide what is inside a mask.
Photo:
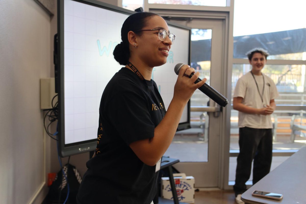
[{"label": "black t-shirt with gold lettering worn by the woman", "polygon": [[125,67],[113,76],[101,98],[96,156],[86,163],[78,202],[151,203],[158,172],[140,161],[129,144],[154,137],[166,113],[163,107],[153,80],[142,81]]}]

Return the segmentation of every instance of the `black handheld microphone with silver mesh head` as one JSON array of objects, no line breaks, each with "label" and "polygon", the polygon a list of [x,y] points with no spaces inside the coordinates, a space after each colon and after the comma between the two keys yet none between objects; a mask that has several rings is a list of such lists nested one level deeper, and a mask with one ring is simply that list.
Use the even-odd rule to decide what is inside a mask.
[{"label": "black handheld microphone with silver mesh head", "polygon": [[[180,72],[181,67],[184,66],[183,63],[178,63],[174,67],[174,72],[178,75]],[[193,76],[193,73],[189,76],[191,78]],[[195,83],[199,83],[202,81],[200,78],[197,78]],[[200,91],[202,91],[205,95],[207,95],[209,98],[211,98],[214,102],[218,103],[220,106],[225,107],[228,104],[228,100],[222,96],[218,91],[216,91],[213,87],[209,86],[207,83],[204,83],[203,86],[201,86]]]}]

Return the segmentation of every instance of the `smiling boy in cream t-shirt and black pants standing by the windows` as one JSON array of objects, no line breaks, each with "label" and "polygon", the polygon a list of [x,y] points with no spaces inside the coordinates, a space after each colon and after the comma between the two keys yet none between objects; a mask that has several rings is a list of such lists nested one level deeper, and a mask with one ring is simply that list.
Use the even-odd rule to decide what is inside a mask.
[{"label": "smiling boy in cream t-shirt and black pants standing by the windows", "polygon": [[273,80],[261,70],[267,62],[266,50],[256,48],[247,53],[252,70],[243,75],[235,87],[233,109],[238,110],[239,154],[234,191],[236,202],[243,204],[241,194],[251,175],[253,185],[270,172],[272,161],[272,122],[274,98],[278,91]]}]

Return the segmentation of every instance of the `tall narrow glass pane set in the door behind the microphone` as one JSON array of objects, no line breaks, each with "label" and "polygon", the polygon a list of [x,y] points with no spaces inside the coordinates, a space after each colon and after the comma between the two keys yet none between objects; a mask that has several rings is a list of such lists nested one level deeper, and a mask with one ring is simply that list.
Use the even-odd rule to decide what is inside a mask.
[{"label": "tall narrow glass pane set in the door behind the microphone", "polygon": [[[200,72],[200,78],[207,78],[207,83],[211,70],[211,34],[211,29],[191,29],[191,67]],[[205,94],[196,90],[192,95],[191,105],[207,106],[208,101]],[[206,112],[190,112],[191,128],[176,132],[165,155],[179,158],[181,162],[207,162],[208,121]]]}]

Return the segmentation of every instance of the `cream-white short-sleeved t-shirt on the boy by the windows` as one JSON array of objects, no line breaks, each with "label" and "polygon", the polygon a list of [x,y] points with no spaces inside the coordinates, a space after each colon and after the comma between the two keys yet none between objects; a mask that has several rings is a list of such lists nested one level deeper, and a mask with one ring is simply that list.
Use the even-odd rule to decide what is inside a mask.
[{"label": "cream-white short-sleeved t-shirt on the boy by the windows", "polygon": [[[260,109],[263,108],[265,105],[270,105],[270,101],[278,96],[278,91],[273,80],[270,77],[264,74],[254,74],[254,77],[257,82],[258,89],[256,86],[256,82],[252,76],[252,73],[248,72],[237,81],[233,98],[242,97],[242,104]],[[265,83],[264,91],[263,81]],[[260,92],[260,95],[263,94],[263,98],[260,97],[258,90]],[[250,114],[239,111],[238,127],[272,128],[271,115]]]}]

